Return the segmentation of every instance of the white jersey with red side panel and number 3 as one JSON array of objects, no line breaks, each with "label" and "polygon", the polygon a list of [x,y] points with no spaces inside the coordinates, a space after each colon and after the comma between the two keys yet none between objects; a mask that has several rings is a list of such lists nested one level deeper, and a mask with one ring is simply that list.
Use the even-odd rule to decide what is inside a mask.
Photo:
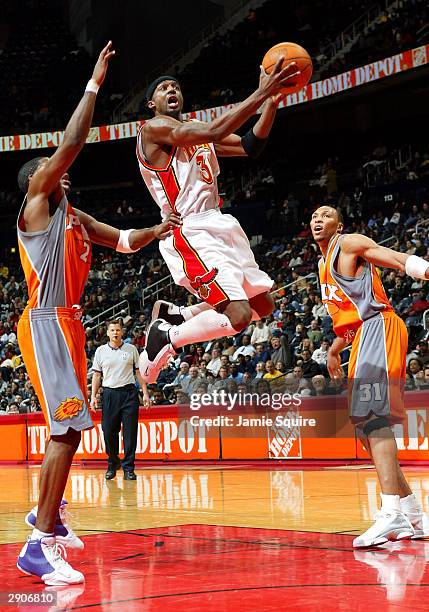
[{"label": "white jersey with red side panel and number 3", "polygon": [[142,128],[136,147],[140,172],[165,219],[171,212],[182,218],[219,208],[216,177],[219,164],[212,143],[173,147],[162,168],[151,166],[142,145]]}]

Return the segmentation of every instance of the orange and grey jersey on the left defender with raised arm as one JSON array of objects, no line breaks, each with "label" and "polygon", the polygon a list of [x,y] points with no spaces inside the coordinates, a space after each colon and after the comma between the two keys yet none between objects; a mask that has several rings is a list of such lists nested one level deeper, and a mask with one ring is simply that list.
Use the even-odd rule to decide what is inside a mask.
[{"label": "orange and grey jersey on the left defender with raised arm", "polygon": [[71,308],[79,304],[91,266],[91,241],[64,196],[49,226],[23,231],[24,199],[18,216],[18,244],[29,308]]}]

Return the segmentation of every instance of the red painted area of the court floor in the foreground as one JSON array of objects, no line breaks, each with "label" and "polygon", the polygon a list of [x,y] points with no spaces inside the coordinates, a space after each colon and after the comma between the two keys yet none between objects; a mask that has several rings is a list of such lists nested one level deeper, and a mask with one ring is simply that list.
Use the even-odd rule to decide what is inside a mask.
[{"label": "red painted area of the court floor in the foreground", "polygon": [[[352,536],[181,525],[83,538],[85,585],[44,587],[0,547],[2,589],[55,591],[26,610],[429,610],[429,542],[353,551]],[[11,607],[1,607],[10,610]]]}]

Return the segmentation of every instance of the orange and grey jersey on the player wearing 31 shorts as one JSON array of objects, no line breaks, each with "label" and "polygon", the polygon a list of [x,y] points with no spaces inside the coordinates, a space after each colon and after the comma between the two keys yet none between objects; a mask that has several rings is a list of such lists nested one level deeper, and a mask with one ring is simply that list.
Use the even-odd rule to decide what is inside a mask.
[{"label": "orange and grey jersey on the player wearing 31 shorts", "polygon": [[332,237],[326,260],[319,261],[319,278],[322,301],[332,318],[338,337],[353,341],[363,321],[381,312],[393,311],[375,266],[367,261],[359,276],[342,276],[336,269],[336,261],[344,236]]}]

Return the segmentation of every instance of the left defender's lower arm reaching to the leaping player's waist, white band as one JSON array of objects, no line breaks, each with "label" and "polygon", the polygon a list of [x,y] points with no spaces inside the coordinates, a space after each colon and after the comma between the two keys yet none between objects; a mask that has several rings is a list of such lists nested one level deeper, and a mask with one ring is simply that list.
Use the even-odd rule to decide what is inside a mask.
[{"label": "left defender's lower arm reaching to the leaping player's waist, white band", "polygon": [[153,227],[119,230],[112,225],[97,221],[81,210],[76,210],[76,214],[88,232],[91,242],[110,247],[120,253],[133,253],[155,239],[164,240],[172,234],[176,227],[182,225],[180,217],[172,213],[165,221]]}]

